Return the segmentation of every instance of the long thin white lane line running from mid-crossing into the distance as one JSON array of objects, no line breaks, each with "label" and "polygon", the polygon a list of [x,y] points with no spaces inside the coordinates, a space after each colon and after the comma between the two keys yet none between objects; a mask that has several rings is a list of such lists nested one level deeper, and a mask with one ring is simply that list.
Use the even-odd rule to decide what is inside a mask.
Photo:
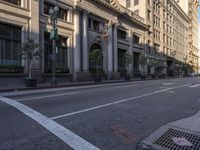
[{"label": "long thin white lane line running from mid-crossing into the distance", "polygon": [[75,111],[75,112],[72,112],[72,113],[51,117],[51,119],[52,120],[59,119],[59,118],[68,117],[68,116],[72,116],[72,115],[76,115],[76,114],[80,114],[80,113],[96,110],[96,109],[99,109],[99,108],[103,108],[103,107],[119,104],[119,103],[128,102],[128,101],[139,99],[139,98],[142,98],[142,97],[147,97],[147,96],[150,96],[150,95],[154,95],[154,94],[158,94],[158,93],[161,93],[161,92],[165,92],[165,91],[168,91],[168,90],[189,86],[190,84],[191,83],[180,85],[180,86],[176,86],[176,87],[171,87],[171,88],[167,88],[167,89],[163,89],[163,90],[159,90],[159,91],[155,91],[155,92],[151,92],[151,93],[147,93],[147,94],[143,94],[143,95],[140,95],[140,96],[135,96],[135,97],[127,98],[127,99],[118,100],[118,101],[115,101],[115,102],[111,102],[111,103],[107,103],[107,104],[91,107],[91,108],[88,108],[88,109],[83,109],[83,110]]}]

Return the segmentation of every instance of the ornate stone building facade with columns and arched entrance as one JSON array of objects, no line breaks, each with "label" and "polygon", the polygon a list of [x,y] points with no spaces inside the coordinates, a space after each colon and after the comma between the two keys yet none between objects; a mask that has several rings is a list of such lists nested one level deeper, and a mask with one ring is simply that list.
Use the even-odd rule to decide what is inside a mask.
[{"label": "ornate stone building facade with columns and arched entrance", "polygon": [[[52,26],[48,12],[55,5],[59,7],[57,76],[89,80],[93,71],[89,54],[94,49],[103,53],[100,69],[106,78],[117,79],[126,70],[132,76],[139,72],[138,59],[147,49],[148,26],[116,0],[0,0],[1,65],[22,65],[26,73],[27,63],[17,56],[16,47],[30,37],[42,51],[41,59],[33,63],[34,76],[50,76]],[[122,59],[125,53],[132,56],[128,68]]]}]

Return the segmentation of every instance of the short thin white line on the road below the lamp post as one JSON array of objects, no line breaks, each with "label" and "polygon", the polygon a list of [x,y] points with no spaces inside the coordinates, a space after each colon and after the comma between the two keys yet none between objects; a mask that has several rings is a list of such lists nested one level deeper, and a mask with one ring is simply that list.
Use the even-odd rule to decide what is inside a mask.
[{"label": "short thin white line on the road below the lamp post", "polygon": [[36,99],[48,98],[48,97],[59,97],[59,96],[66,96],[66,95],[74,95],[74,94],[77,94],[77,93],[78,92],[71,92],[71,93],[45,95],[45,96],[38,96],[38,97],[28,97],[28,98],[19,99],[19,100],[16,100],[16,101],[18,101],[18,102],[20,102],[20,101],[29,101],[29,100],[36,100]]}]

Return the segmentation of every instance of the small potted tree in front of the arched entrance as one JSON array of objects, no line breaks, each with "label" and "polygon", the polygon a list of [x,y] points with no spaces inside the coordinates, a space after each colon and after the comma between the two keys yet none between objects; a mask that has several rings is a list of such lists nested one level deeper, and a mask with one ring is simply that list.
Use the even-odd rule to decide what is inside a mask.
[{"label": "small potted tree in front of the arched entrance", "polygon": [[90,52],[89,55],[90,62],[95,64],[95,82],[101,82],[101,77],[99,75],[99,66],[102,63],[103,60],[103,53],[100,49],[94,49]]}]

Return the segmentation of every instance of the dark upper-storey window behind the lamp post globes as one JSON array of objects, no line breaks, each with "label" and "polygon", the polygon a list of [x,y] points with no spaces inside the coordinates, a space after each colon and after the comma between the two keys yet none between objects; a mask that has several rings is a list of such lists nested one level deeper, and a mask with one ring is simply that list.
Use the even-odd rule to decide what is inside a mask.
[{"label": "dark upper-storey window behind the lamp post globes", "polygon": [[[49,10],[51,8],[54,8],[54,5],[44,2],[44,13],[46,15],[49,15]],[[67,14],[68,14],[68,10],[59,8],[58,18],[67,21]]]}]

